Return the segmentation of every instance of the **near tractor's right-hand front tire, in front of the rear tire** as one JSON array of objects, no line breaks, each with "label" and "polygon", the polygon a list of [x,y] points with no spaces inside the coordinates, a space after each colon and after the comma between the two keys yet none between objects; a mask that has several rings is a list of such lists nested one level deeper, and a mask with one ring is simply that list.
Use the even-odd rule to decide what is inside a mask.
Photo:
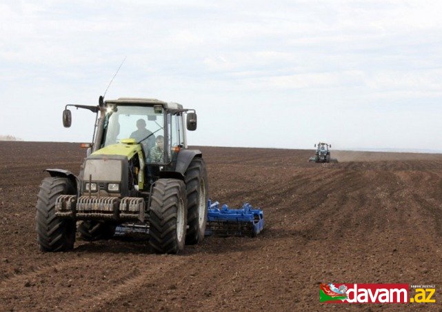
[{"label": "near tractor's right-hand front tire, in front of the rear tire", "polygon": [[158,179],[150,197],[149,244],[157,253],[179,253],[184,248],[187,224],[185,184],[179,179]]}]

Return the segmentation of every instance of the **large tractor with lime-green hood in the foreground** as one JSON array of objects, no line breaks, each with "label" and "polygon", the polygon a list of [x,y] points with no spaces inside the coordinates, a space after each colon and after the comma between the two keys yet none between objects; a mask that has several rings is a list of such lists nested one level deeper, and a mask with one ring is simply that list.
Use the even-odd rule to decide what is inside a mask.
[{"label": "large tractor with lime-green hood in the foreground", "polygon": [[[112,237],[117,226],[148,228],[157,253],[179,253],[204,239],[208,175],[200,150],[190,150],[184,124],[195,110],[157,99],[99,98],[98,106],[67,105],[97,114],[92,144],[78,176],[46,169],[37,199],[41,251],[69,251],[83,240]],[[187,118],[185,118],[187,117]]]}]

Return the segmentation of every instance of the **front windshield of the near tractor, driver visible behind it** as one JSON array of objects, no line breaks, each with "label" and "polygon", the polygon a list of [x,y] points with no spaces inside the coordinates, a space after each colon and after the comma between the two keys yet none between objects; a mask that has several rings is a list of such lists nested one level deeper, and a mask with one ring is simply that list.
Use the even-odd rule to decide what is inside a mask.
[{"label": "front windshield of the near tractor, driver visible behind it", "polygon": [[163,162],[163,111],[155,112],[150,106],[109,106],[103,127],[103,147],[130,138],[141,144],[145,160]]}]

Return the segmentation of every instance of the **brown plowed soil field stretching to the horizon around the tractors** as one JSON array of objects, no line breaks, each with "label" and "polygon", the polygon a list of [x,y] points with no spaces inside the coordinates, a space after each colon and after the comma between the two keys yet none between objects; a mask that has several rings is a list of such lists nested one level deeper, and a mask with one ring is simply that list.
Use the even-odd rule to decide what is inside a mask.
[{"label": "brown plowed soil field stretching to the horizon around the tractors", "polygon": [[[199,147],[210,197],[265,213],[258,237],[206,237],[180,255],[145,240],[77,240],[43,253],[45,168],[78,173],[78,144],[0,142],[0,311],[439,310],[442,155]],[[435,284],[436,304],[319,302],[319,283]]]}]

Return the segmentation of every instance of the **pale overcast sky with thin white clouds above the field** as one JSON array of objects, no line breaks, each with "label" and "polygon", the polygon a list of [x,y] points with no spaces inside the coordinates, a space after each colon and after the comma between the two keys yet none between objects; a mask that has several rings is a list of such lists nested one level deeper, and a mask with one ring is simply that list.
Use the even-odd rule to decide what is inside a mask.
[{"label": "pale overcast sky with thin white clouds above the field", "polygon": [[1,1],[0,135],[89,142],[96,105],[198,113],[203,146],[442,150],[442,1]]}]

